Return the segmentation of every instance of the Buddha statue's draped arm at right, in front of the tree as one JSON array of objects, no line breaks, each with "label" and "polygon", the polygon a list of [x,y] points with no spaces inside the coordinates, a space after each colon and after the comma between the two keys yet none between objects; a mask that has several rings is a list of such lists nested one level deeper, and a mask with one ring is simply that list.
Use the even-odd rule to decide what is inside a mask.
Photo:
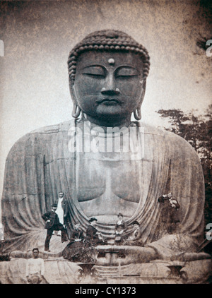
[{"label": "Buddha statue's draped arm at right, in front of the tree", "polygon": [[[184,251],[196,251],[204,232],[204,177],[193,148],[183,139],[170,167],[170,191],[179,201],[179,225],[175,234],[166,234],[147,244],[159,258],[170,258]],[[176,147],[177,148],[177,147]]]}]

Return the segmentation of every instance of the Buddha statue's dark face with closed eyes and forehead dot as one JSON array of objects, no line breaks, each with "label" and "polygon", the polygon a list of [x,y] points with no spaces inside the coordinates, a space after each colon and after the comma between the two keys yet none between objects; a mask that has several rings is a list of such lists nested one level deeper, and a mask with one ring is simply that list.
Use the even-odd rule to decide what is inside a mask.
[{"label": "Buddha statue's dark face with closed eyes and forehead dot", "polygon": [[78,57],[73,93],[94,122],[130,119],[143,100],[143,62],[133,53],[84,52]]}]

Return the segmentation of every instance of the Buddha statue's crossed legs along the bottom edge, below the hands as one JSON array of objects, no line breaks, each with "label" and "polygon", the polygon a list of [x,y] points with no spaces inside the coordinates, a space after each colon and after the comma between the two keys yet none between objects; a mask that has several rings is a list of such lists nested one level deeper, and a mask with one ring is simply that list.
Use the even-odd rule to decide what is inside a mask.
[{"label": "Buddha statue's crossed legs along the bottom edge, below the hands", "polygon": [[[26,284],[27,259],[12,258],[0,262],[1,284]],[[172,270],[177,268],[177,270]],[[184,284],[207,283],[211,275],[211,260],[190,262],[152,261],[126,266],[96,266],[45,259],[45,280],[49,284]]]}]

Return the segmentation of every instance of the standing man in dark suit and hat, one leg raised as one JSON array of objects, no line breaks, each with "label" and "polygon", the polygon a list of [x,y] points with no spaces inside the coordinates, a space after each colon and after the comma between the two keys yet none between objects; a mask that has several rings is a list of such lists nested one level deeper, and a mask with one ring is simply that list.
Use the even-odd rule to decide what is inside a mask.
[{"label": "standing man in dark suit and hat, one leg raised", "polygon": [[47,237],[45,239],[45,251],[49,251],[49,242],[52,238],[54,231],[61,231],[61,242],[67,241],[66,229],[64,225],[59,222],[59,217],[55,211],[57,210],[57,204],[52,205],[52,210],[42,215],[42,219],[45,220],[47,229]]}]

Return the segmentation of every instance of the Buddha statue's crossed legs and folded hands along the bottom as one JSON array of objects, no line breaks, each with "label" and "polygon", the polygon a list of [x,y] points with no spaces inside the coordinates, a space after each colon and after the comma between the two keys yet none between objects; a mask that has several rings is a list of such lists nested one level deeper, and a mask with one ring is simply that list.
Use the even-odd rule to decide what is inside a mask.
[{"label": "Buddha statue's crossed legs and folded hands along the bottom", "polygon": [[[61,244],[52,237],[52,251],[40,251],[45,262],[45,281],[49,284],[184,284],[207,283],[211,276],[211,256],[205,253],[184,254],[177,261],[147,260],[141,263],[142,249],[136,246],[97,246],[99,254],[94,263],[73,263],[54,249]],[[26,264],[32,251],[13,251],[11,261],[0,262],[0,283],[25,284]],[[125,262],[125,263],[124,263]],[[134,262],[134,263],[132,263]]]}]

